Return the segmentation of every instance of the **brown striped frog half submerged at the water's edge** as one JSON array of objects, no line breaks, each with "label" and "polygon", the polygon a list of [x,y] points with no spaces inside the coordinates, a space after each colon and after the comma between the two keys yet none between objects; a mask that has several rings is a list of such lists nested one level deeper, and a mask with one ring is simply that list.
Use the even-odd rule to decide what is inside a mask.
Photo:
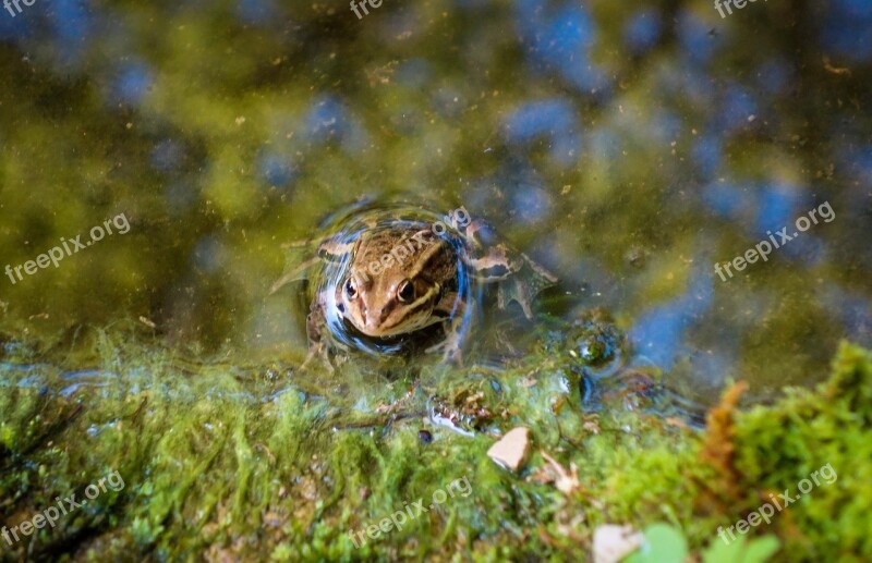
[{"label": "brown striped frog half submerged at the water's edge", "polygon": [[485,286],[497,284],[498,307],[514,301],[532,319],[535,296],[557,282],[525,254],[497,242],[491,225],[472,220],[464,207],[441,219],[420,208],[370,208],[348,221],[272,287],[322,267],[306,317],[304,367],[320,357],[332,370],[334,347],[387,355],[423,347],[462,364]]}]

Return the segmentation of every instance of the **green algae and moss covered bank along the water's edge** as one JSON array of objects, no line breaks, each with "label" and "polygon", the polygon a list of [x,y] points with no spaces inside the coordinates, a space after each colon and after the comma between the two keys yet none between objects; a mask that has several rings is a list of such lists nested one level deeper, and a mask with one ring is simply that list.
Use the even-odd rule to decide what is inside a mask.
[{"label": "green algae and moss covered bank along the water's edge", "polygon": [[[590,322],[580,325],[590,331]],[[706,561],[742,561],[735,553],[743,538],[720,548],[717,527],[831,464],[835,482],[821,484],[749,536],[777,537],[780,558],[791,561],[872,556],[872,353],[844,344],[827,381],[814,391],[789,390],[768,406],[737,408],[740,388],[734,388],[699,430],[680,411],[646,414],[663,395],[653,379],[595,383],[602,408],[583,407],[581,379],[601,358],[570,354],[542,334],[543,352],[504,372],[441,366],[423,367],[416,378],[361,372],[320,390],[300,384],[301,374],[287,366],[185,363],[105,333],[95,338],[94,369],[78,372],[29,364],[25,346],[7,342],[0,366],[7,524],[29,519],[111,470],[126,486],[53,529],[3,544],[2,553],[583,559],[596,527],[616,523],[640,530],[668,525],[666,533],[655,526],[652,541],[668,543],[663,538],[671,531],[691,552],[705,551]],[[437,397],[472,431],[425,423]],[[533,441],[519,474],[486,455],[516,426],[530,428]],[[350,531],[419,499],[426,506],[434,491],[463,477],[470,494],[355,548]]]}]

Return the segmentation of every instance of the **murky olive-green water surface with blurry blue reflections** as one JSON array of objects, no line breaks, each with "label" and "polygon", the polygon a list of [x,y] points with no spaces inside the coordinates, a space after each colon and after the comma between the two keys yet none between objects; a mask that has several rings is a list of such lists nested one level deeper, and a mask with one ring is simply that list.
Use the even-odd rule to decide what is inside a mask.
[{"label": "murky olive-green water surface with blurry blue reflections", "polygon": [[[495,223],[560,277],[567,319],[608,309],[628,367],[705,400],[727,378],[758,397],[809,383],[839,339],[872,344],[870,27],[863,0],[726,19],[542,0],[3,13],[4,264],[131,221],[0,282],[3,331],[75,347],[143,317],[193,354],[299,354],[288,303],[267,298],[281,244],[403,194]],[[717,277],[824,201],[833,222]]]}]

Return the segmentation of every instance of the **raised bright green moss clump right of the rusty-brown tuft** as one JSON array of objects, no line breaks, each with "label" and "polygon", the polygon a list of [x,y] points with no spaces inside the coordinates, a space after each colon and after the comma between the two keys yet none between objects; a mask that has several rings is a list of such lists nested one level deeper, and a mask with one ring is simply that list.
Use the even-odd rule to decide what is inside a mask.
[{"label": "raised bright green moss clump right of the rusty-brown tuft", "polygon": [[[755,407],[739,419],[737,467],[749,485],[750,510],[770,493],[794,495],[802,479],[813,485],[773,522],[789,536],[790,558],[872,554],[871,393],[872,354],[844,344],[833,377],[814,392],[792,390],[775,407]],[[811,474],[825,465],[835,480],[814,484]]]}]

